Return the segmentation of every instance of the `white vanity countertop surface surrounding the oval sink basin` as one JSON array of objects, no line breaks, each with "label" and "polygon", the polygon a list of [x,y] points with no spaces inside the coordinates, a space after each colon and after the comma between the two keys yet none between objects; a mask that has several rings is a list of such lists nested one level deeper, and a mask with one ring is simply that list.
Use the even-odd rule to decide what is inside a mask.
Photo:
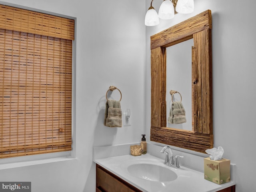
[{"label": "white vanity countertop surface surrounding the oval sink basin", "polygon": [[[150,154],[145,154],[141,156],[132,156],[132,155],[121,155],[114,156],[108,158],[98,158],[95,159],[94,162],[106,170],[112,172],[116,176],[122,178],[126,182],[132,184],[136,188],[142,190],[143,192],[216,192],[218,190],[222,190],[224,188],[228,188],[230,186],[235,185],[235,181],[232,180],[228,183],[224,183],[221,185],[215,184],[208,180],[204,179],[204,173],[196,170],[192,170],[190,168],[186,168],[181,166],[181,170],[188,170],[191,172],[189,177],[186,176],[178,176],[176,180],[168,181],[168,182],[156,182],[149,181],[133,176],[127,171],[127,163],[125,162],[134,162],[136,160],[144,159],[152,159],[154,158],[157,162],[164,162],[164,160],[152,156]],[[164,165],[165,166],[165,165]],[[172,167],[168,167],[170,169],[174,169]],[[174,169],[175,170],[175,169]]]}]

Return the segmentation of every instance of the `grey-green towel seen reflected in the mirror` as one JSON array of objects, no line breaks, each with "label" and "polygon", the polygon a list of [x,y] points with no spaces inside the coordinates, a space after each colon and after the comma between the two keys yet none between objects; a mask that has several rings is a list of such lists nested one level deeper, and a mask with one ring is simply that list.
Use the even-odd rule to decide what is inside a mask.
[{"label": "grey-green towel seen reflected in the mirror", "polygon": [[185,123],[186,115],[185,109],[181,102],[173,102],[169,113],[168,122],[170,124],[180,124]]}]

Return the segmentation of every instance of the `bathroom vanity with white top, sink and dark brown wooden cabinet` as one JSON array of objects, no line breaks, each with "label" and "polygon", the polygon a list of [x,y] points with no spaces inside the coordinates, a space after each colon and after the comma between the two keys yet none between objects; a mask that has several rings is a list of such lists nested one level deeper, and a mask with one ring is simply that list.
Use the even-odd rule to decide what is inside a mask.
[{"label": "bathroom vanity with white top, sink and dark brown wooden cabinet", "polygon": [[184,166],[171,168],[150,154],[122,155],[94,162],[96,192],[170,192],[170,189],[175,192],[235,192],[233,179],[218,185],[205,180],[203,172]]}]

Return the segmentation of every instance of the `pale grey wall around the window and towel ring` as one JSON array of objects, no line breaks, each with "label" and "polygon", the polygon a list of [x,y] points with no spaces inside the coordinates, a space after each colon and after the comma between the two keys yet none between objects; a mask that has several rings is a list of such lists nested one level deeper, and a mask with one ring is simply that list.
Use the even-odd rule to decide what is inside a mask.
[{"label": "pale grey wall around the window and towel ring", "polygon": [[[93,192],[93,147],[139,142],[145,132],[145,0],[5,2],[77,19],[77,159],[0,170],[0,181],[31,181],[33,192]],[[121,90],[121,107],[123,111],[130,108],[132,126],[103,125],[105,94],[110,85]],[[119,99],[115,92],[112,98]]]}]

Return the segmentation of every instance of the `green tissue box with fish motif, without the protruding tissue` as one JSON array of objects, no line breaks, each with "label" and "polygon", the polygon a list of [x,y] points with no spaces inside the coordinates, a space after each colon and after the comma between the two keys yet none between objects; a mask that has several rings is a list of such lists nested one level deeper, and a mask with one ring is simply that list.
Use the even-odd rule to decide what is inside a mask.
[{"label": "green tissue box with fish motif, without the protruding tissue", "polygon": [[230,182],[230,160],[204,158],[204,178],[217,184]]}]

